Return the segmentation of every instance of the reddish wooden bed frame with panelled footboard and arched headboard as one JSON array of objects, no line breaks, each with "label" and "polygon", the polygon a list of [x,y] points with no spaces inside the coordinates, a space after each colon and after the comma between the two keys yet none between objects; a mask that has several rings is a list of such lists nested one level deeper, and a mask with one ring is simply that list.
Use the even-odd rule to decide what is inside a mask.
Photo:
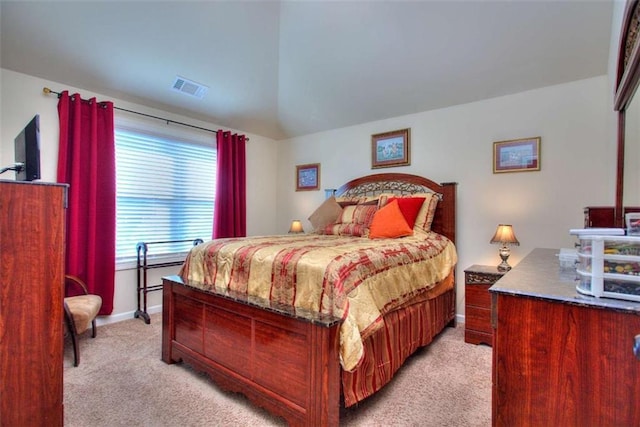
[{"label": "reddish wooden bed frame with panelled footboard and arched headboard", "polygon": [[[336,195],[433,191],[441,195],[432,229],[455,243],[456,184],[408,174],[354,179]],[[455,282],[454,282],[455,283]],[[443,320],[455,321],[455,286],[437,297]],[[340,319],[294,312],[232,293],[214,294],[163,278],[162,360],[206,372],[291,425],[335,426],[341,406]]]}]

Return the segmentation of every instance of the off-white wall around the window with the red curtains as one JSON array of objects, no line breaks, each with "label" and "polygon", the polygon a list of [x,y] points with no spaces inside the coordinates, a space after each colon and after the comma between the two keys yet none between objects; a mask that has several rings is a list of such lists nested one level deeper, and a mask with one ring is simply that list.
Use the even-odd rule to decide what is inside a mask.
[{"label": "off-white wall around the window with the red curtains", "polygon": [[[78,92],[83,98],[96,97],[98,100],[114,101],[116,107],[126,108],[147,114],[160,116],[176,121],[190,123],[208,129],[218,129],[213,123],[193,120],[175,114],[154,110],[111,98],[106,94],[96,94],[87,90],[69,87],[60,83],[39,79],[25,74],[0,69],[0,166],[13,163],[13,140],[35,114],[40,114],[41,168],[42,181],[55,182],[58,156],[58,112],[57,99],[53,95],[45,95],[43,87],[56,92],[69,90]],[[134,119],[138,116],[116,111],[116,115],[127,115]],[[162,123],[162,122],[160,122]],[[177,126],[177,125],[168,125]],[[233,129],[231,129],[233,130]],[[237,130],[234,130],[237,131]],[[240,131],[240,133],[244,133]],[[276,228],[275,209],[275,177],[277,144],[265,137],[247,134],[247,233],[250,235],[274,234]],[[215,141],[211,135],[212,143]],[[14,179],[13,172],[6,172],[0,179]],[[25,242],[28,244],[28,239]],[[177,268],[157,269],[150,271],[150,278],[159,283],[160,277],[176,274]],[[153,283],[153,282],[152,282]],[[116,272],[116,288],[112,319],[131,317],[136,309],[136,275],[135,270]],[[149,306],[161,303],[161,292],[152,292]],[[157,309],[157,307],[156,307]],[[109,321],[109,319],[107,320]]]}]

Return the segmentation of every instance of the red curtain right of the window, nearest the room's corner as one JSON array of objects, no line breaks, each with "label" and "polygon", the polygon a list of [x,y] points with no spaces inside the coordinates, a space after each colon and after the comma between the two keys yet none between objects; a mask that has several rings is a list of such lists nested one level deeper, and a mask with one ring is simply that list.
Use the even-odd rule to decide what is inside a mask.
[{"label": "red curtain right of the window, nearest the room's corner", "polygon": [[247,184],[244,135],[217,132],[216,203],[213,238],[247,235]]}]

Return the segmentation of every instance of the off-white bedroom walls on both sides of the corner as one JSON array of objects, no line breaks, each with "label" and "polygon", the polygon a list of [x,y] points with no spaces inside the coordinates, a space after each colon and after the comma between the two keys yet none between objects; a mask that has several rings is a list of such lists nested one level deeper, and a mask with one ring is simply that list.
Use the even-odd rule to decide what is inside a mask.
[{"label": "off-white bedroom walls on both sides of the corner", "polygon": [[[58,139],[56,99],[42,93],[44,86],[217,128],[9,70],[2,70],[0,79],[0,164],[13,162],[13,138],[39,113],[43,181],[55,180]],[[248,233],[286,232],[291,219],[306,219],[322,202],[323,191],[294,191],[297,164],[321,163],[321,188],[336,188],[361,175],[393,171],[458,182],[458,313],[462,314],[462,271],[475,263],[498,264],[498,248],[489,244],[498,223],[512,223],[521,242],[512,250],[510,261],[515,265],[535,247],[572,247],[568,230],[582,226],[582,208],[613,204],[611,93],[610,79],[602,76],[279,143],[249,135]],[[411,165],[372,170],[371,135],[405,127],[411,128]],[[542,138],[540,172],[492,173],[494,141],[533,136]],[[5,175],[2,178],[12,179],[11,173]],[[308,222],[305,229],[310,229]],[[174,273],[154,270],[151,276]],[[149,297],[150,306],[160,303],[159,292]],[[114,317],[129,316],[135,310],[134,270],[117,272],[115,298]]]}]

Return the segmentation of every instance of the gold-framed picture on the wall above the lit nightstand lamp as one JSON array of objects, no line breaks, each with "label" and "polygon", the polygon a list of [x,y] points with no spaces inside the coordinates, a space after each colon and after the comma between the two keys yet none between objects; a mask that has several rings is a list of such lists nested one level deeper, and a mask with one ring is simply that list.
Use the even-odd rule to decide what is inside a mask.
[{"label": "gold-framed picture on the wall above the lit nightstand lamp", "polygon": [[540,137],[493,143],[493,173],[540,170]]}]

